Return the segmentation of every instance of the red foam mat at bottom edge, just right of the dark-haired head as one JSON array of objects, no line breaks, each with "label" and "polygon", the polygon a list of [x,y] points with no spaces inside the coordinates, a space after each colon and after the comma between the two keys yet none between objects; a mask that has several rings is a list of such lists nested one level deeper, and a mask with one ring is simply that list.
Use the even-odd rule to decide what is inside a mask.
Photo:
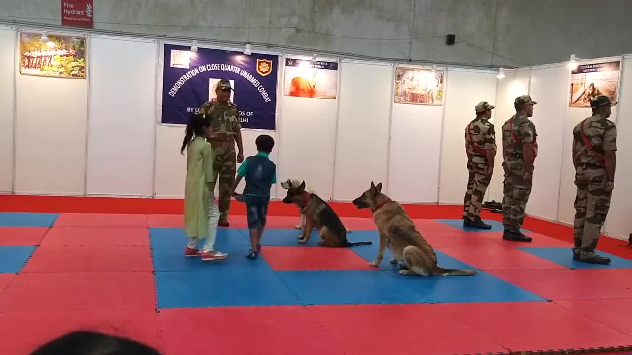
[{"label": "red foam mat at bottom edge, just right of the dark-haired head", "polygon": [[159,318],[166,354],[344,354],[301,306],[181,308]]}]

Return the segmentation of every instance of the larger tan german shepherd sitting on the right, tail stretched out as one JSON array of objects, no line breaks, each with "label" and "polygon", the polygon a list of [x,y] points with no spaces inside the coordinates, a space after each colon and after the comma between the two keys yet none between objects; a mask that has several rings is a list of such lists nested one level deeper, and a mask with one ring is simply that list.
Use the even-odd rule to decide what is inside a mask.
[{"label": "larger tan german shepherd sitting on the right, tail stretched out", "polygon": [[380,247],[377,259],[371,266],[379,267],[384,258],[384,249],[389,248],[393,255],[391,263],[401,262],[399,274],[402,275],[475,275],[476,270],[441,268],[437,265],[437,254],[432,246],[416,229],[413,220],[408,217],[401,205],[382,193],[382,183],[371,187],[360,197],[353,200],[358,208],[371,208],[375,226],[380,232]]}]

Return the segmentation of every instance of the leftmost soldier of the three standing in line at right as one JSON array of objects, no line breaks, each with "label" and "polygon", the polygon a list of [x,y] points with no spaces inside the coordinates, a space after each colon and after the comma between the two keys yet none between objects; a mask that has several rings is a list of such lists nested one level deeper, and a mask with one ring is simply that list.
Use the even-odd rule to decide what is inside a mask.
[{"label": "leftmost soldier of the three standing in line at right", "polygon": [[494,173],[496,134],[489,122],[494,105],[487,101],[475,107],[476,118],[465,127],[465,153],[468,157],[468,188],[463,203],[463,227],[492,229],[480,218],[485,191]]}]

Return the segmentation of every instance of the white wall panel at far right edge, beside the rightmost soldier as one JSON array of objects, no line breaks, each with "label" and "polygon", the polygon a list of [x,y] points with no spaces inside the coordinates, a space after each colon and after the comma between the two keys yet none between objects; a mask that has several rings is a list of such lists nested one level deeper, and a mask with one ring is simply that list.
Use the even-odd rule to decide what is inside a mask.
[{"label": "white wall panel at far right edge, beside the rightmost soldier", "polygon": [[[614,193],[610,203],[610,212],[605,221],[605,232],[611,236],[628,238],[632,233],[632,219],[630,210],[630,190],[632,186],[632,56],[623,61],[621,87],[619,91],[618,107],[613,109],[621,119],[617,120],[617,170],[614,176]],[[626,156],[628,155],[628,156]]]}]

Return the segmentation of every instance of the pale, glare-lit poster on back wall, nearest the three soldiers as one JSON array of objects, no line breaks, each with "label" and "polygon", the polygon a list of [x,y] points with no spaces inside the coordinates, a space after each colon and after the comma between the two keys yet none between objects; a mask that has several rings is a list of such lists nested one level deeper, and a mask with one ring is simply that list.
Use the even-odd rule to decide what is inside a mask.
[{"label": "pale, glare-lit poster on back wall, nearest the three soldiers", "polygon": [[418,105],[443,105],[443,70],[398,67],[395,71],[394,102]]}]

